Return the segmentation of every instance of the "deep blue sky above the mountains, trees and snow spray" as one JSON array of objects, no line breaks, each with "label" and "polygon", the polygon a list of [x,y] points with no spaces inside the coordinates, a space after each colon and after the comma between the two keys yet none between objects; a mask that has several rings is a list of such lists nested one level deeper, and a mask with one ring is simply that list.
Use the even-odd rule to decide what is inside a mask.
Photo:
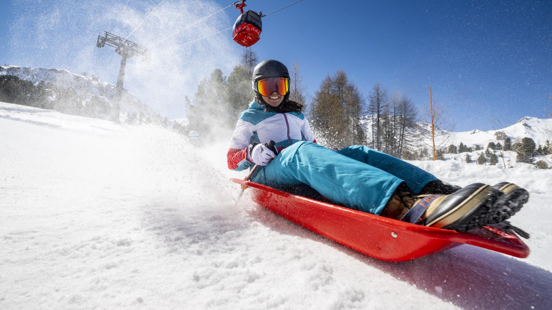
[{"label": "deep blue sky above the mountains, trees and snow spray", "polygon": [[[126,0],[112,1],[118,5],[115,6],[118,9],[122,8],[125,2]],[[134,14],[144,18],[158,2],[159,0],[130,0],[126,12],[131,9]],[[193,3],[198,3],[197,8],[189,10],[194,11],[195,17],[203,17],[216,12],[217,8],[226,7],[231,1],[216,0],[214,3],[201,4],[201,1],[165,0],[160,10],[162,6],[171,6],[174,2],[179,2],[187,8]],[[293,0],[249,0],[246,3],[247,8],[262,10],[267,14],[291,2]],[[0,20],[3,21],[0,24],[0,41],[9,41],[11,46],[8,49],[0,49],[0,62],[21,66],[65,65],[68,70],[82,70],[82,67],[73,68],[75,65],[71,62],[60,61],[60,55],[54,56],[55,53],[50,47],[43,47],[44,54],[38,58],[21,56],[20,49],[23,47],[13,46],[17,41],[15,39],[24,37],[21,29],[24,29],[27,23],[31,28],[33,23],[32,20],[25,21],[25,14],[40,14],[50,9],[44,7],[36,13],[26,9],[30,3],[35,2],[3,1],[0,4],[3,6],[0,9]],[[99,6],[106,2],[98,0],[97,3]],[[63,6],[57,9],[61,10],[62,17],[65,16]],[[86,9],[99,12],[99,9],[91,4],[86,4]],[[82,13],[75,11],[73,15],[75,14]],[[221,16],[202,22],[203,26],[209,26],[211,33],[230,27],[237,18],[238,10],[229,8],[219,15]],[[136,21],[129,19],[128,24],[120,25],[120,29],[124,30],[119,31],[129,33],[141,18],[137,18]],[[187,23],[195,20],[187,20]],[[150,20],[146,20],[141,28],[153,26],[148,25],[148,22]],[[155,19],[152,18],[151,22],[155,23]],[[15,24],[17,27],[14,27]],[[107,27],[105,25],[103,28]],[[93,30],[98,33],[100,28],[102,27],[98,26]],[[159,33],[162,37],[181,28],[179,25],[167,26],[160,28]],[[19,29],[15,31],[18,35],[13,34],[14,29]],[[45,29],[41,33],[47,35],[47,31],[54,30],[55,28]],[[83,32],[86,32],[78,27],[65,31],[67,33],[63,38],[73,40],[82,39]],[[88,31],[86,34],[94,31]],[[193,31],[185,32],[174,39],[187,42],[194,38]],[[139,31],[136,34],[138,35]],[[185,38],[178,38],[180,35]],[[210,50],[220,46],[220,50],[216,51],[220,57],[215,57],[220,59],[220,62],[211,60],[208,64],[204,63],[203,70],[194,75],[198,81],[209,71],[208,65],[213,68],[222,67],[225,74],[229,74],[231,65],[235,64],[241,52],[240,46],[229,41],[229,33],[217,36],[220,40],[225,40],[224,46],[219,42],[210,47]],[[62,44],[55,41],[55,35],[53,37],[52,44]],[[94,41],[94,38],[86,40]],[[148,45],[150,42],[143,43]],[[28,44],[32,46],[31,43]],[[207,43],[198,41],[195,44]],[[445,104],[450,117],[458,123],[457,131],[489,130],[493,127],[491,122],[494,119],[500,120],[502,124],[511,125],[526,115],[544,117],[544,108],[552,107],[552,100],[549,98],[552,93],[550,1],[384,3],[304,0],[264,18],[261,40],[253,49],[261,59],[274,58],[288,66],[296,59],[304,83],[307,84],[307,91],[311,95],[327,74],[333,74],[339,69],[347,72],[351,81],[365,95],[368,95],[374,83],[379,81],[390,93],[408,95],[420,108],[429,104],[429,85],[432,85],[434,102]],[[91,52],[99,53],[92,50]],[[187,57],[194,55],[193,50],[190,52],[192,54],[188,54]],[[54,58],[58,60],[51,61]],[[109,58],[109,61],[116,63],[116,57]],[[132,63],[129,63],[129,66],[132,66]],[[200,66],[200,62],[196,66]],[[94,72],[97,69],[91,67],[87,70]],[[114,83],[116,70],[112,71],[115,72],[99,72],[102,73],[100,77]],[[193,82],[194,78],[190,81]],[[125,84],[125,87],[140,95],[138,84],[129,83]],[[160,110],[171,118],[182,116],[183,113],[182,109],[171,106]]]}]

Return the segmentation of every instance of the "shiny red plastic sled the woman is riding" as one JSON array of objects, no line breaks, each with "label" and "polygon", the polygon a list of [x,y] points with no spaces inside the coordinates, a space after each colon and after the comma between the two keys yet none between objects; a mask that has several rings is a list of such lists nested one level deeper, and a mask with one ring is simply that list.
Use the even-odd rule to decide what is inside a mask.
[{"label": "shiny red plastic sled the woman is riding", "polygon": [[529,247],[506,229],[485,226],[457,232],[425,227],[291,195],[251,181],[231,180],[250,188],[253,201],[268,210],[377,259],[411,260],[464,243],[518,258],[529,255]]}]

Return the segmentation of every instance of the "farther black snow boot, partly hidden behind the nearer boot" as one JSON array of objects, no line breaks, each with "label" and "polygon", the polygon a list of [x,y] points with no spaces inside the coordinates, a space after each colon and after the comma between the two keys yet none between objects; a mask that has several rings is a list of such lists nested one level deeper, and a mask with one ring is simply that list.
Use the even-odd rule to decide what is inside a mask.
[{"label": "farther black snow boot, partly hidden behind the nearer boot", "polygon": [[495,210],[491,217],[491,223],[500,223],[508,220],[508,218],[521,210],[523,205],[529,200],[528,191],[516,184],[501,182],[492,187],[503,191],[506,194],[506,201],[501,208]]}]

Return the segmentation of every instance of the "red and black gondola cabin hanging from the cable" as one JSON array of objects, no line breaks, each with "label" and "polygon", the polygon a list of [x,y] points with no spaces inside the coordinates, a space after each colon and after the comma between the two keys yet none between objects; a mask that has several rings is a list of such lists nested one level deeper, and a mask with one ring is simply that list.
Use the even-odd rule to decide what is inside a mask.
[{"label": "red and black gondola cabin hanging from the cable", "polygon": [[240,16],[236,19],[236,23],[232,27],[232,38],[237,44],[245,47],[250,47],[255,44],[260,38],[263,23],[262,15],[257,14],[252,10],[243,12],[243,7],[246,7],[246,0],[240,0],[233,5],[236,9],[240,9]]}]

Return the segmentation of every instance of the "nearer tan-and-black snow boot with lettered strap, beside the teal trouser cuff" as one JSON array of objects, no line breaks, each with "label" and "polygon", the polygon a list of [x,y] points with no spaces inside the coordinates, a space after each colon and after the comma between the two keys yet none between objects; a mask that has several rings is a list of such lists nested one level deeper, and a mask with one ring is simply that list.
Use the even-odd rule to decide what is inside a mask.
[{"label": "nearer tan-and-black snow boot with lettered strap, beside the teal trouser cuff", "polygon": [[489,225],[495,209],[502,208],[506,196],[491,185],[474,183],[454,194],[413,195],[397,191],[385,207],[388,216],[419,225],[468,231]]}]

